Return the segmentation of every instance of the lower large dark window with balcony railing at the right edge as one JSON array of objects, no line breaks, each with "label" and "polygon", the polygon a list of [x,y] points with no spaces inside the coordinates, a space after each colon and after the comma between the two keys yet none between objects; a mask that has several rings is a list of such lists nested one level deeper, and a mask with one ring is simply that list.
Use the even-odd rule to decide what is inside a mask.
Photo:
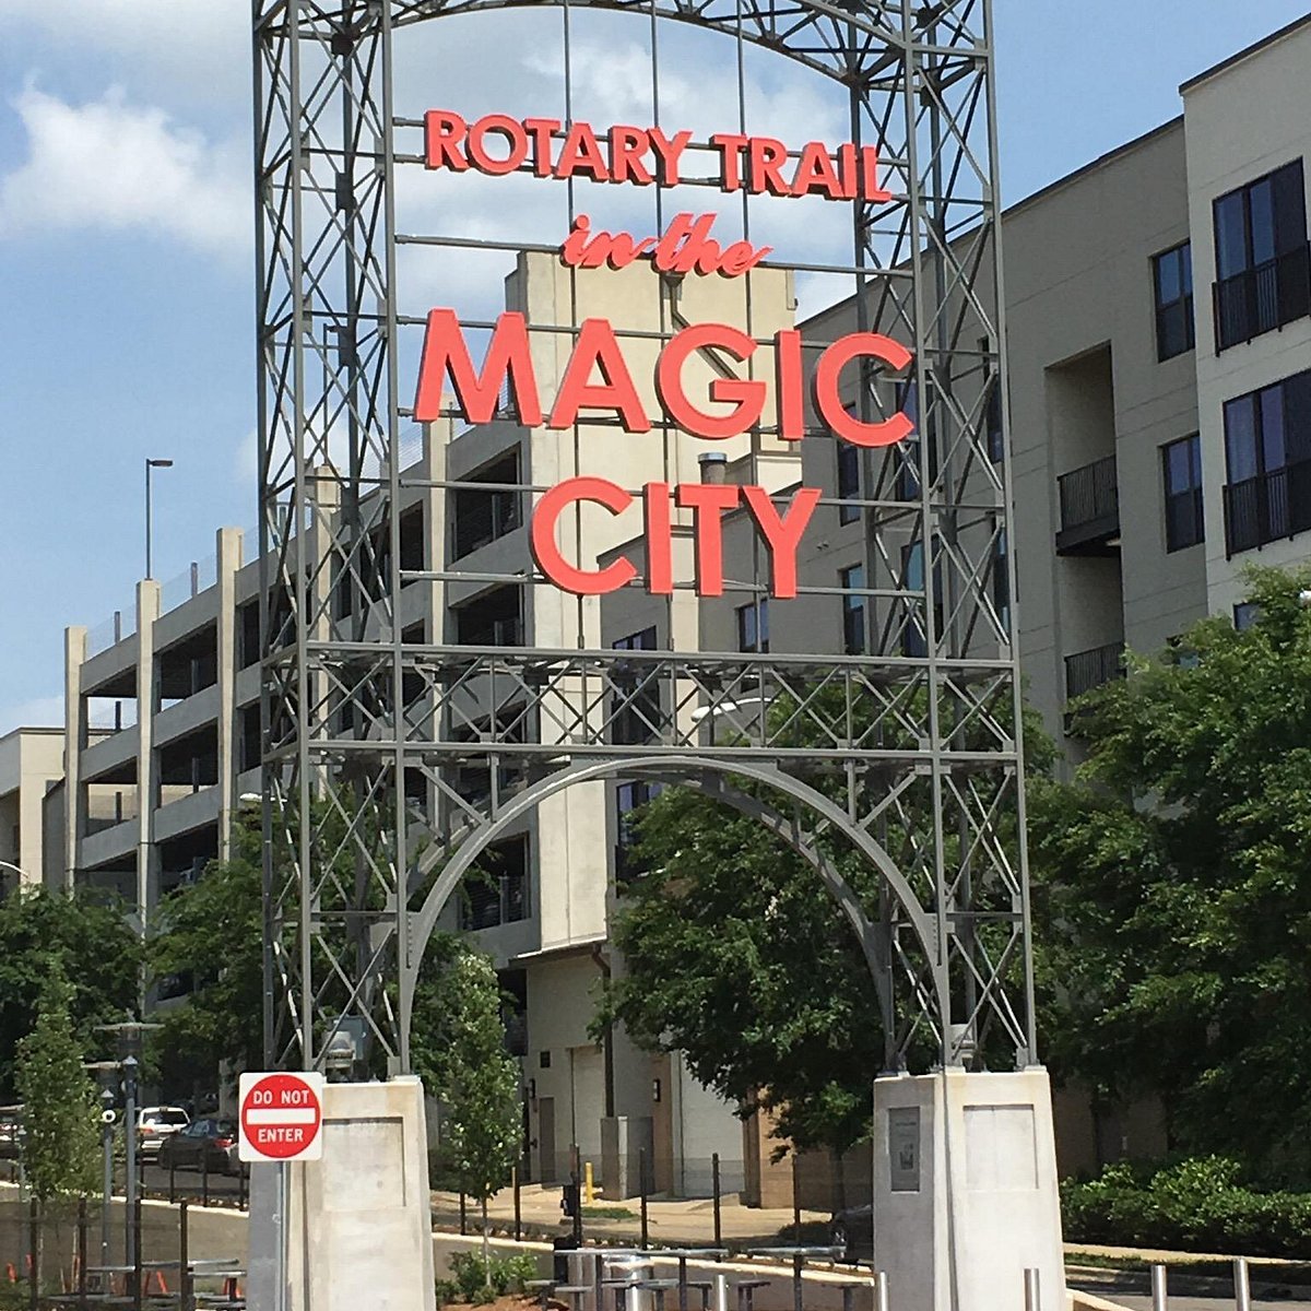
[{"label": "lower large dark window with balcony railing at the right edge", "polygon": [[1224,548],[1311,528],[1311,371],[1224,405]]}]

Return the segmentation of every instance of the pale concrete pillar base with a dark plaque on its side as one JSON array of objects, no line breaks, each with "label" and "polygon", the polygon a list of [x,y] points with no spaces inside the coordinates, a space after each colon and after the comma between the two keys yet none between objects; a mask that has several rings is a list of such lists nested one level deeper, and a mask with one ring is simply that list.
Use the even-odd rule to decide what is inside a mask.
[{"label": "pale concrete pillar base with a dark plaque on its side", "polygon": [[874,1261],[897,1311],[1065,1311],[1051,1088],[1015,1074],[874,1080]]}]

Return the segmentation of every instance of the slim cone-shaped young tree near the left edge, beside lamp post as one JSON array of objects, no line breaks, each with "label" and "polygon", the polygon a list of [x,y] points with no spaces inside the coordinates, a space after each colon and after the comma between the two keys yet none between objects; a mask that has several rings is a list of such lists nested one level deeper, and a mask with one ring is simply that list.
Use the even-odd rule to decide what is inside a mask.
[{"label": "slim cone-shaped young tree near the left edge, beside lamp post", "polygon": [[22,1167],[42,1207],[96,1186],[98,1103],[83,1068],[72,1006],[73,987],[56,960],[42,983],[37,1023],[18,1044],[16,1062],[24,1104]]}]

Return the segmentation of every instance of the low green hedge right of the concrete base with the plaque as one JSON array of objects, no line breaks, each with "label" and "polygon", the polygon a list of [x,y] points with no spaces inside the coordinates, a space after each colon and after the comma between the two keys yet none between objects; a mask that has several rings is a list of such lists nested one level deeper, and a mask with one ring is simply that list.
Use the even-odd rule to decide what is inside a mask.
[{"label": "low green hedge right of the concrete base with the plaque", "polygon": [[1221,1156],[1155,1172],[1118,1163],[1089,1181],[1066,1180],[1061,1211],[1066,1242],[1311,1257],[1311,1194],[1260,1192]]}]

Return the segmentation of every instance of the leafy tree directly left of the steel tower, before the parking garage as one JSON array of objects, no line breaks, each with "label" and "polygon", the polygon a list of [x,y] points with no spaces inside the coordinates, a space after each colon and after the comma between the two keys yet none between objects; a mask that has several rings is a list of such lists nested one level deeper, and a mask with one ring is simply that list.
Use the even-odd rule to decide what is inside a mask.
[{"label": "leafy tree directly left of the steel tower, before the parking garage", "polygon": [[151,941],[151,973],[190,990],[168,1011],[153,1061],[174,1080],[216,1087],[218,1068],[258,1070],[264,1058],[264,874],[258,810],[232,825],[231,855],[172,893]]}]

